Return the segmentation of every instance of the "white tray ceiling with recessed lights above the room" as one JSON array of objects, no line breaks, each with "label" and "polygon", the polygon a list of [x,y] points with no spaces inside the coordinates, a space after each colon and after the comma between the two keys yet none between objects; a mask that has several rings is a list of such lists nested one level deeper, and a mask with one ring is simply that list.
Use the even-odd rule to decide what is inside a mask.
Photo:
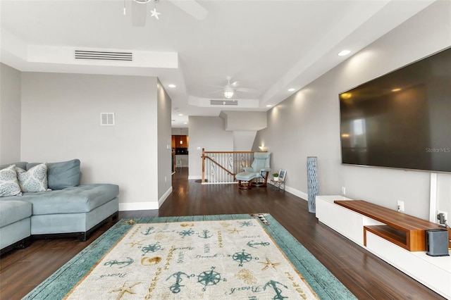
[{"label": "white tray ceiling with recessed lights above the room", "polygon": [[[157,76],[173,101],[172,127],[187,127],[188,115],[268,110],[294,93],[288,88],[301,89],[347,59],[337,55],[342,49],[351,56],[433,3],[199,0],[208,13],[198,20],[159,0],[159,20],[152,1],[147,24],[135,27],[131,1],[1,0],[1,62],[22,71]],[[80,62],[74,49],[132,51],[140,59]],[[214,86],[227,76],[255,92],[236,92],[236,107],[203,107],[223,99]]]}]

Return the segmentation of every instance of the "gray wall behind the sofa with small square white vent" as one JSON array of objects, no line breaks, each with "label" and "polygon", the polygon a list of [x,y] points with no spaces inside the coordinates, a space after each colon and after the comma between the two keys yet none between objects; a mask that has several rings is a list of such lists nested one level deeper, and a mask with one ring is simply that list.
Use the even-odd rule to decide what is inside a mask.
[{"label": "gray wall behind the sofa with small square white vent", "polygon": [[[22,73],[21,159],[80,158],[83,183],[120,186],[121,210],[158,208],[170,174],[159,163],[171,168],[170,155],[159,158],[170,125],[157,128],[167,105],[157,106],[156,77]],[[115,113],[116,125],[101,126],[100,113]]]}]

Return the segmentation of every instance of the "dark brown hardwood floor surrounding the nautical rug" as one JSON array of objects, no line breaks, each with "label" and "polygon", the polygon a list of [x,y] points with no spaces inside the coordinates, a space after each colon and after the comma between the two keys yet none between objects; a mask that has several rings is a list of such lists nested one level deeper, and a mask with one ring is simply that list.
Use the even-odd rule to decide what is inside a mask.
[{"label": "dark brown hardwood floor surrounding the nautical rug", "polygon": [[[187,168],[173,175],[173,193],[158,211],[121,211],[121,218],[173,215],[271,213],[359,299],[444,299],[388,263],[318,222],[307,201],[268,188],[202,185],[187,180]],[[20,299],[109,229],[87,240],[42,239],[0,258],[0,299]]]}]

